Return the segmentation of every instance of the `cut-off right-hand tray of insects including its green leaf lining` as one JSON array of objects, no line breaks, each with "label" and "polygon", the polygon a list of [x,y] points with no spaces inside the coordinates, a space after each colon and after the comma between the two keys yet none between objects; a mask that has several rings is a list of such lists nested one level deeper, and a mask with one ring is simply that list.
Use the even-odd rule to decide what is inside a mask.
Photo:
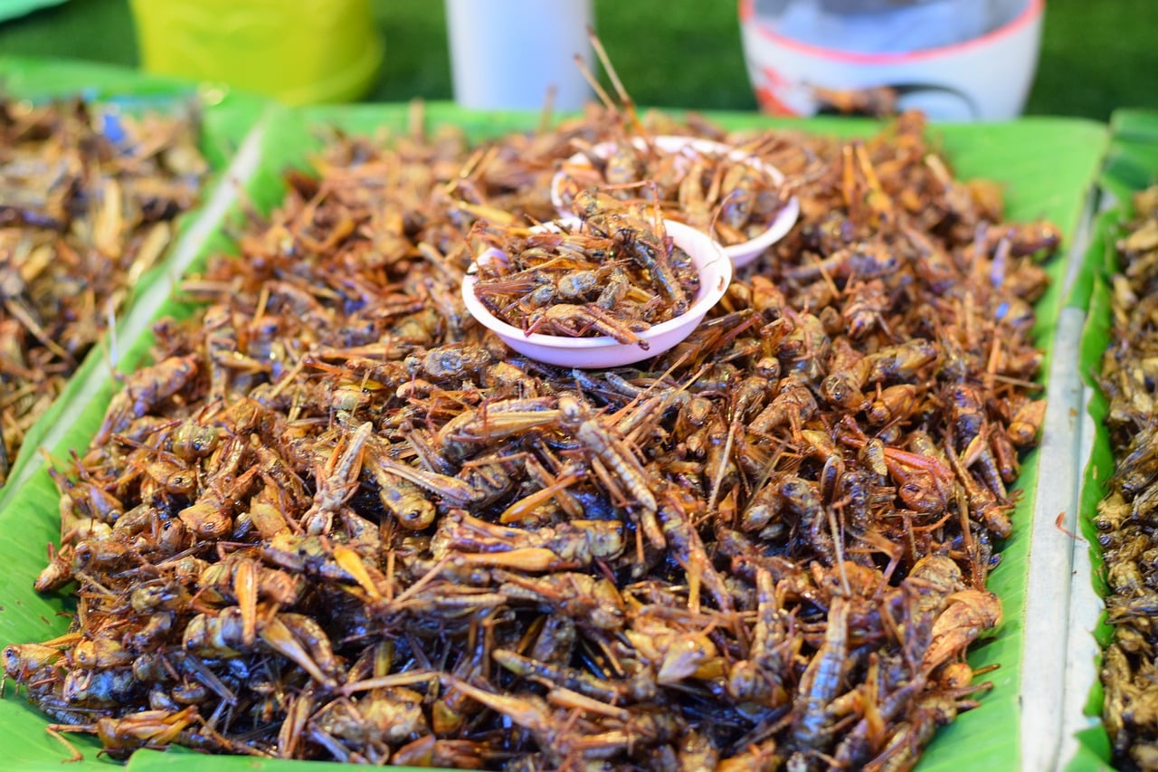
[{"label": "cut-off right-hand tray of insects including its green leaf lining", "polygon": [[[1153,769],[1158,722],[1151,568],[1155,488],[1152,347],[1149,308],[1158,256],[1158,114],[1120,110],[1099,189],[1102,209],[1086,256],[1089,320],[1080,373],[1089,399],[1082,536],[1091,581],[1075,584],[1075,607],[1095,655],[1085,721],[1075,723],[1070,770]],[[1092,635],[1091,635],[1092,633]],[[1090,657],[1091,660],[1095,658]]]}]

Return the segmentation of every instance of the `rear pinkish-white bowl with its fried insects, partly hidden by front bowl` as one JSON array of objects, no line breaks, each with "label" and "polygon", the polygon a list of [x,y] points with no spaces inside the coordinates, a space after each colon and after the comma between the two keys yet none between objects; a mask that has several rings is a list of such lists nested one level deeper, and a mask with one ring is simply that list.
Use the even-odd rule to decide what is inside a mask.
[{"label": "rear pinkish-white bowl with its fried insects, partly hidden by front bowl", "polygon": [[576,199],[588,189],[659,202],[667,219],[719,242],[736,268],[783,239],[800,214],[771,163],[741,147],[679,134],[609,140],[569,158],[551,179],[559,217],[582,214]]}]

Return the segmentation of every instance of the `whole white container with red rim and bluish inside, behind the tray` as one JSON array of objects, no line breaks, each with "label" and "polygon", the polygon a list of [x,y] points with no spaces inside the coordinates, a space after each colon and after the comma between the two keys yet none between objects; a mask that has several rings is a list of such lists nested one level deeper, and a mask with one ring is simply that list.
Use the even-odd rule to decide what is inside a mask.
[{"label": "whole white container with red rim and bluish inside, behind the tray", "polygon": [[[877,16],[821,9],[806,19],[789,13],[793,3],[889,8]],[[938,5],[944,9],[935,16]],[[889,87],[900,110],[999,121],[1020,115],[1029,95],[1045,5],[739,0],[739,15],[748,77],[765,112],[812,116],[830,104],[826,93]]]}]

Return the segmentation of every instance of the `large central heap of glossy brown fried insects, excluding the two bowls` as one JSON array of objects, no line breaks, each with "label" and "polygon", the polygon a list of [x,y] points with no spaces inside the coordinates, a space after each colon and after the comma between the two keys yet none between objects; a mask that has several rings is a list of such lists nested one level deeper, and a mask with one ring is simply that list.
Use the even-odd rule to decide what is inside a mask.
[{"label": "large central heap of glossy brown fried insects, excluding the two bowls", "polygon": [[113,756],[894,770],[979,704],[965,653],[1001,619],[1056,228],[1003,221],[917,114],[863,140],[640,121],[750,150],[801,219],[636,367],[521,358],[460,296],[478,230],[552,219],[552,173],[617,114],[332,134],[285,175],[57,472],[37,589],[74,587],[75,620],[3,653],[52,731]]}]

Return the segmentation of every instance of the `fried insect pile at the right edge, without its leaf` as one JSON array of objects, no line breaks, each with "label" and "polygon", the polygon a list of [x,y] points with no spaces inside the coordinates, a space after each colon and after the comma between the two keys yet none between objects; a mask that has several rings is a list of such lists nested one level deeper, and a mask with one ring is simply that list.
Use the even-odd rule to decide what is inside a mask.
[{"label": "fried insect pile at the right edge, without its leaf", "polygon": [[1135,219],[1117,242],[1113,276],[1111,347],[1102,356],[1101,389],[1109,400],[1106,427],[1114,475],[1094,525],[1106,563],[1107,619],[1113,640],[1102,657],[1104,719],[1122,770],[1158,766],[1153,563],[1158,538],[1158,425],[1155,355],[1158,329],[1158,187],[1134,196]]}]

